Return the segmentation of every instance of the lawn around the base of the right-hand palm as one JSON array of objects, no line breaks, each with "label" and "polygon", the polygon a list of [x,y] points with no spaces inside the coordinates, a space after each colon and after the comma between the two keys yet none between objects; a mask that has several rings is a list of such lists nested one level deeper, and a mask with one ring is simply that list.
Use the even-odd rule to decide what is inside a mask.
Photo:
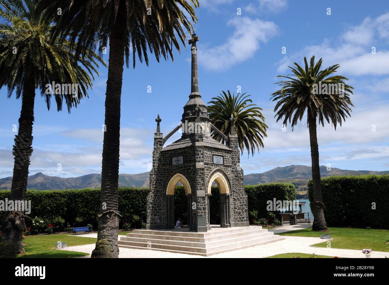
[{"label": "lawn around the base of the right-hand palm", "polygon": [[[331,248],[362,250],[370,248],[373,251],[389,252],[389,230],[387,229],[349,229],[347,227],[329,227],[331,234]],[[325,233],[312,231],[311,228],[299,229],[281,233],[281,236],[321,236]],[[327,247],[327,241],[312,245]]]}]

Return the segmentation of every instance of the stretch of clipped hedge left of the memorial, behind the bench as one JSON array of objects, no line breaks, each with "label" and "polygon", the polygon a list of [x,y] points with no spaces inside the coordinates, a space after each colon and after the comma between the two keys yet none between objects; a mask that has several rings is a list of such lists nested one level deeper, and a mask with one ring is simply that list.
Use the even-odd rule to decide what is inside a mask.
[{"label": "stretch of clipped hedge left of the memorial, behind the bench", "polygon": [[[120,225],[128,222],[133,227],[140,227],[141,222],[146,221],[148,193],[147,188],[119,188]],[[0,200],[9,198],[10,194],[10,190],[0,191]],[[31,200],[31,213],[28,216],[32,218],[40,217],[46,223],[52,223],[60,216],[65,220],[65,226],[92,224],[97,227],[100,189],[28,190],[26,199]],[[5,213],[0,212],[0,220]]]}]

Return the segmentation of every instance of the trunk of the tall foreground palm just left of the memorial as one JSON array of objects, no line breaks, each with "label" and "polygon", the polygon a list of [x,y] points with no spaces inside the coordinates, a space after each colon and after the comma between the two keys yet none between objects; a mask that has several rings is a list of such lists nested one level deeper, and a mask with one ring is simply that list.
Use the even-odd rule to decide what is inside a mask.
[{"label": "trunk of the tall foreground palm just left of the memorial", "polygon": [[92,258],[118,258],[118,180],[120,144],[120,96],[123,82],[125,2],[121,1],[109,38],[109,66],[105,92],[105,127],[101,177],[100,211],[96,248]]}]

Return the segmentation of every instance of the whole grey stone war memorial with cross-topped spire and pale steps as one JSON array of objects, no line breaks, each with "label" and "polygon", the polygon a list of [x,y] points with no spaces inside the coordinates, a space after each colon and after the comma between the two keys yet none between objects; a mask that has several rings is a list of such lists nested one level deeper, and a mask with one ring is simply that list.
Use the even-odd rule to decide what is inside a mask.
[{"label": "whole grey stone war memorial with cross-topped spire and pale steps", "polygon": [[[147,226],[121,238],[119,246],[148,248],[186,254],[212,254],[281,240],[260,226],[249,227],[247,195],[240,166],[238,136],[234,118],[228,136],[210,123],[207,105],[199,91],[197,47],[199,37],[192,35],[191,93],[184,105],[181,123],[168,135],[160,131],[156,118],[150,193],[147,196]],[[179,129],[179,140],[166,141]],[[211,137],[215,131],[226,144]],[[184,186],[187,227],[176,228],[174,191]],[[210,196],[215,182],[220,195],[220,225],[210,224]],[[215,190],[213,190],[215,191]]]}]

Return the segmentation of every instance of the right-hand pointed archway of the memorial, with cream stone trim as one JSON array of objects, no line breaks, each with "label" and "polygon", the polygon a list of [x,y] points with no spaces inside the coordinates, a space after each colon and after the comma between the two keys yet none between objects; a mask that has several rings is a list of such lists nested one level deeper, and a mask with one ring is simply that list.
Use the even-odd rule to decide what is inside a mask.
[{"label": "right-hand pointed archway of the memorial, with cream stone trim", "polygon": [[212,196],[212,183],[215,182],[219,188],[220,201],[220,227],[230,227],[230,184],[228,178],[221,171],[216,171],[208,179],[208,221],[210,227],[211,210],[210,197]]}]

